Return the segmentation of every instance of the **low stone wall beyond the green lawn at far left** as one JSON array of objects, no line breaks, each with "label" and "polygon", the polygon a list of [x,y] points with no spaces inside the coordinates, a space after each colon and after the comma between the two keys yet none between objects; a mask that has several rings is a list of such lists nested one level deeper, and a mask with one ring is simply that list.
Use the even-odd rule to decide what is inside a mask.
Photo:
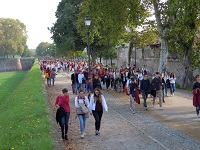
[{"label": "low stone wall beyond the green lawn at far left", "polygon": [[22,71],[29,70],[34,63],[34,59],[1,59],[0,60],[0,72],[6,71]]}]

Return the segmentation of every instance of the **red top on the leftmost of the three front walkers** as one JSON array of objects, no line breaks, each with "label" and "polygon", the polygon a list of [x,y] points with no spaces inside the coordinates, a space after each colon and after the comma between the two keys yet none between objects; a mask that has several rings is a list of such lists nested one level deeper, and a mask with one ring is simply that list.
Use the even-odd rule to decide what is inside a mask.
[{"label": "red top on the leftmost of the three front walkers", "polygon": [[63,107],[65,109],[65,112],[70,112],[69,102],[69,95],[57,96],[55,105]]}]

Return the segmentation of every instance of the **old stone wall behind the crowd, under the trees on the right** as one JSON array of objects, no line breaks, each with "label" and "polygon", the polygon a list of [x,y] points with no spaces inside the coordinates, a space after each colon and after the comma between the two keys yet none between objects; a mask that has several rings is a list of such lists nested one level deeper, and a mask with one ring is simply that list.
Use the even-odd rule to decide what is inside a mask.
[{"label": "old stone wall behind the crowd, under the trees on the right", "polygon": [[[142,68],[143,65],[146,64],[149,70],[148,71],[149,74],[152,75],[153,73],[155,73],[159,66],[160,45],[155,44],[155,45],[147,46],[144,49],[138,49],[138,48],[136,49],[137,49],[136,50],[136,65],[139,68]],[[120,62],[118,63],[118,68],[120,68],[121,65],[125,67],[128,64],[128,47],[118,51],[118,56],[119,56],[118,60]],[[168,63],[167,63],[166,71],[168,72],[168,74],[170,74],[171,72],[174,72],[176,74],[177,83],[179,84],[182,83],[184,66],[179,55],[175,53],[169,54],[167,59],[168,59]],[[130,66],[132,67],[134,64],[135,64],[135,49],[133,48]],[[189,79],[188,79],[189,85],[192,85],[193,82],[195,81],[194,77],[196,74],[200,74],[199,69],[196,69],[195,71],[190,73]]]}]

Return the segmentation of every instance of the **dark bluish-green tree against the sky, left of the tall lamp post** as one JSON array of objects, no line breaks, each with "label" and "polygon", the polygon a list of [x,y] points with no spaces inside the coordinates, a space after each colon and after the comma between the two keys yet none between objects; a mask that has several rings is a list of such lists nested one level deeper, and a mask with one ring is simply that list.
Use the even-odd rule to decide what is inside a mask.
[{"label": "dark bluish-green tree against the sky, left of the tall lamp post", "polygon": [[71,50],[83,50],[86,47],[76,28],[80,3],[81,0],[62,0],[57,7],[57,20],[50,32],[60,55],[66,56]]}]

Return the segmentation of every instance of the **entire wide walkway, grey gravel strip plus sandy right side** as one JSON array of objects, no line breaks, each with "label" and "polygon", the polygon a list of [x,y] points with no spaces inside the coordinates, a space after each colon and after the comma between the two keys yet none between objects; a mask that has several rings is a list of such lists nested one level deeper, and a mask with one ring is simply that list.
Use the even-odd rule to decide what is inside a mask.
[{"label": "entire wide walkway, grey gravel strip plus sandy right side", "polygon": [[[70,74],[59,74],[51,92],[59,93],[67,87],[71,90]],[[59,91],[58,91],[59,90]],[[53,96],[55,93],[51,93]],[[136,114],[129,110],[129,97],[124,93],[103,91],[107,100],[108,113],[104,112],[100,136],[94,135],[93,116],[87,119],[85,139],[80,138],[79,122],[75,119],[74,98],[71,97],[71,117],[69,126],[69,141],[65,149],[77,150],[163,150],[163,149],[198,149],[199,134],[187,134],[185,128],[200,131],[200,118],[196,118],[191,100],[178,96],[167,97],[163,111],[149,108],[143,109],[142,104],[136,104]],[[53,99],[51,101],[54,101]],[[151,100],[148,99],[151,106]],[[193,130],[194,128],[194,130]],[[53,131],[53,132],[58,132]],[[200,133],[200,132],[199,132]],[[193,138],[192,138],[193,136]]]}]

